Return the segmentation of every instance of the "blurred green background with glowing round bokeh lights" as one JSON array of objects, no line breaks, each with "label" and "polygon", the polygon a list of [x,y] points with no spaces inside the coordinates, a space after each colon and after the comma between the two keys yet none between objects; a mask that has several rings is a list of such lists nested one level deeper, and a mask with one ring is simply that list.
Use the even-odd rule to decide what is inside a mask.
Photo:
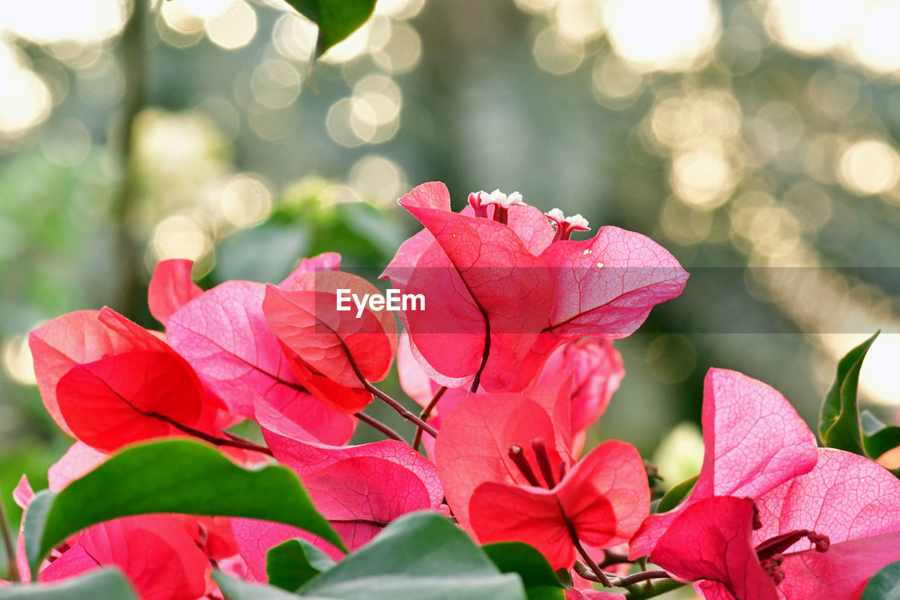
[{"label": "blurred green background with glowing round bokeh lights", "polygon": [[617,342],[592,432],[667,485],[698,468],[713,366],[815,423],[881,328],[863,397],[896,418],[898,31],[896,0],[379,0],[313,69],[315,29],[279,0],[0,4],[4,505],[70,442],[33,327],[102,305],[158,326],[159,259],[203,286],[325,250],[383,267],[416,231],[395,200],[436,179],[457,206],[499,187],[644,232],[695,274]]}]

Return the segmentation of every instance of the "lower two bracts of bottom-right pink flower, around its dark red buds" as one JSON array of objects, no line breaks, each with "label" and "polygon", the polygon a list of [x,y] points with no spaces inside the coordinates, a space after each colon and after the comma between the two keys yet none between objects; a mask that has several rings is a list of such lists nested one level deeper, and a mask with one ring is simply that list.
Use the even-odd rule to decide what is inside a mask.
[{"label": "lower two bracts of bottom-right pink flower, around its dark red buds", "polygon": [[707,600],[858,597],[900,560],[900,480],[865,457],[819,450],[813,470],[763,495],[690,505],[650,559]]}]

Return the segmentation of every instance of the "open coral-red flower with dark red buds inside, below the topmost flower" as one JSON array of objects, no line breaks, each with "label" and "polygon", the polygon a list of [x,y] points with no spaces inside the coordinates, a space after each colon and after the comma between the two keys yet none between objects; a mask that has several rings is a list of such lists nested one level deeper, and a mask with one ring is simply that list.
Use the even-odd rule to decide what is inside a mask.
[{"label": "open coral-red flower with dark red buds inside, below the topmost flower", "polygon": [[608,441],[575,462],[568,386],[552,389],[468,395],[437,437],[437,470],[477,540],[524,541],[569,568],[576,540],[599,549],[626,541],[649,513],[650,492],[628,444]]}]

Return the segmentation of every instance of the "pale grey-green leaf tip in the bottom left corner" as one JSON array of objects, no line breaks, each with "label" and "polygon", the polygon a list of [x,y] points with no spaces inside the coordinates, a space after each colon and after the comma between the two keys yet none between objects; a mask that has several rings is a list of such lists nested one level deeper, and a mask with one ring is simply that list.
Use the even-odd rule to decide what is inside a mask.
[{"label": "pale grey-green leaf tip in the bottom left corner", "polygon": [[0,587],[2,600],[138,600],[128,579],[118,568],[98,568],[49,586]]}]

